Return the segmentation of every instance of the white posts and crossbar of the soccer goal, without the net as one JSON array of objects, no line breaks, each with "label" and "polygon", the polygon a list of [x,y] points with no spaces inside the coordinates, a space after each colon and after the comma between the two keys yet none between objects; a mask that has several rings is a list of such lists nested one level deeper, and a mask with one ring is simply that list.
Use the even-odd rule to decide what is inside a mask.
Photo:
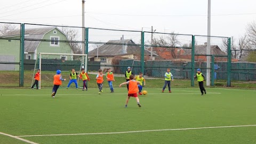
[{"label": "white posts and crossbar of the soccer goal, without the net", "polygon": [[41,75],[42,75],[42,69],[41,69],[41,63],[42,63],[42,55],[77,55],[77,56],[84,56],[85,60],[82,61],[81,65],[84,66],[84,70],[87,72],[87,54],[71,54],[71,53],[37,53],[39,54],[39,69],[40,72],[40,81],[38,82],[38,89],[41,89]]}]

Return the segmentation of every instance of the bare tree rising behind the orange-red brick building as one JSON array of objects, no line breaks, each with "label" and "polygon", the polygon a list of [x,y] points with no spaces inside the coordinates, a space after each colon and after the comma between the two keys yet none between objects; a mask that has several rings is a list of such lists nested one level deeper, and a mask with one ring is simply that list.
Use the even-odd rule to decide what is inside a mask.
[{"label": "bare tree rising behind the orange-red brick building", "polygon": [[172,57],[175,59],[177,58],[177,53],[175,53],[175,47],[180,44],[178,40],[178,35],[174,34],[174,31],[172,31],[172,33],[167,38],[169,39],[168,44],[171,47],[169,49],[171,50]]}]

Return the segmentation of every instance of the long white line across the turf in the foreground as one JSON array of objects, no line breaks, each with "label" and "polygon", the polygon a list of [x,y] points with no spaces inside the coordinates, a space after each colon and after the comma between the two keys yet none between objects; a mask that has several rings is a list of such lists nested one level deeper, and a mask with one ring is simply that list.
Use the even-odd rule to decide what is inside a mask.
[{"label": "long white line across the turf in the foreground", "polygon": [[63,136],[63,135],[122,134],[122,133],[138,133],[138,132],[201,130],[201,129],[218,129],[218,128],[229,128],[229,127],[251,127],[251,126],[256,126],[256,125],[212,126],[212,127],[183,128],[183,129],[163,129],[163,130],[126,131],[126,132],[100,132],[100,133],[70,133],[70,134],[19,135],[19,136],[15,136],[15,137],[45,137],[45,136]]}]

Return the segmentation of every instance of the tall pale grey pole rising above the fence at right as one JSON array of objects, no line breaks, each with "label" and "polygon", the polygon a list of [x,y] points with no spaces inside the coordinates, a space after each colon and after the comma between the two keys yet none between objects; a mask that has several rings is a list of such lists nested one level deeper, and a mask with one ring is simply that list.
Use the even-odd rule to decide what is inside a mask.
[{"label": "tall pale grey pole rising above the fence at right", "polygon": [[[211,0],[208,0],[208,17],[207,17],[207,48],[206,55],[211,54]],[[211,57],[206,56],[207,65],[206,65],[206,85],[210,86],[210,73],[211,73]]]}]

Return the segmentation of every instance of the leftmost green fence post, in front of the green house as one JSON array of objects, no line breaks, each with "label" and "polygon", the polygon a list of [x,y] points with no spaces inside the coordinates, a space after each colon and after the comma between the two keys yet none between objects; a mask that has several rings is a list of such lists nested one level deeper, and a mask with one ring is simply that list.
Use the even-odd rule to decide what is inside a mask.
[{"label": "leftmost green fence post, in front of the green house", "polygon": [[24,37],[25,37],[25,25],[20,25],[20,84],[24,86]]}]

